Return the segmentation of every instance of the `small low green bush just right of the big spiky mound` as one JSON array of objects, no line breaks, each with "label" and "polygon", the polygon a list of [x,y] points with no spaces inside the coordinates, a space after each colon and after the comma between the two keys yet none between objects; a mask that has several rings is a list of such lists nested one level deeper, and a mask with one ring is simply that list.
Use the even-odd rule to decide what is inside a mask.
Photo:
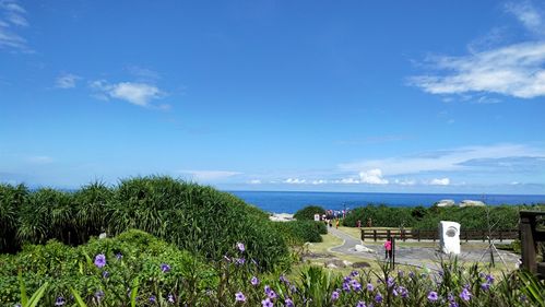
[{"label": "small low green bush just right of the big spiky mound", "polygon": [[274,226],[286,238],[291,245],[300,245],[304,243],[320,243],[322,237],[328,233],[325,224],[315,221],[291,221],[279,222]]}]

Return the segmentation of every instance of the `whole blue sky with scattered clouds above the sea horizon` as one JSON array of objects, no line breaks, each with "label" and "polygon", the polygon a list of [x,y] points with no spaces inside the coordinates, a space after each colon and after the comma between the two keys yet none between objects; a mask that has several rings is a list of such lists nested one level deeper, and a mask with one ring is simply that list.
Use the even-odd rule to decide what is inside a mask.
[{"label": "whole blue sky with scattered clouds above the sea horizon", "polygon": [[0,181],[545,193],[545,3],[0,0]]}]

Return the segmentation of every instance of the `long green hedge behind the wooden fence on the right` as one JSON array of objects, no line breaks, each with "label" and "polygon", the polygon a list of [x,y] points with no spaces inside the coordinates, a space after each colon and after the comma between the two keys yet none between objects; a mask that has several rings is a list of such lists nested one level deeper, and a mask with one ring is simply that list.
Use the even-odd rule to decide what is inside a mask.
[{"label": "long green hedge behind the wooden fence on the right", "polygon": [[464,229],[486,229],[488,221],[495,228],[516,229],[520,210],[537,210],[542,206],[387,206],[367,205],[354,209],[344,220],[344,225],[355,226],[358,220],[366,225],[368,219],[376,227],[412,227],[414,229],[435,229],[439,221],[453,221]]}]

